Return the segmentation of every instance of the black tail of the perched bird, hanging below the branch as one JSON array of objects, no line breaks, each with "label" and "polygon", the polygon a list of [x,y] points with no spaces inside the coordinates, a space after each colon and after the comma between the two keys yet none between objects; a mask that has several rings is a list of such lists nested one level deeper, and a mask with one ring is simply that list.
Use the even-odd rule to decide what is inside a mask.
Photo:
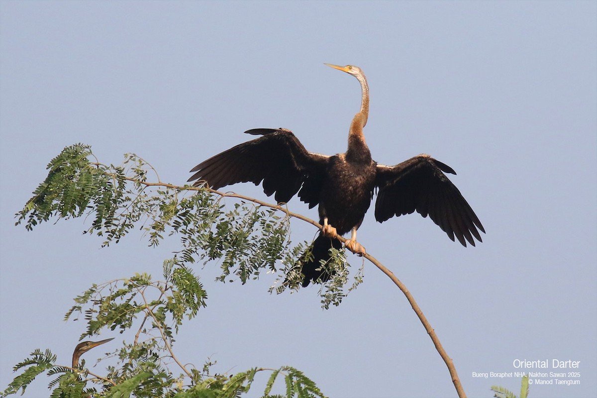
[{"label": "black tail of the perched bird, hanging below the branch", "polygon": [[[298,259],[301,267],[301,273],[304,275],[303,288],[308,286],[311,281],[324,283],[327,282],[332,274],[326,267],[330,260],[330,248],[337,250],[342,249],[342,242],[338,239],[330,239],[319,234],[313,244],[307,251]],[[310,253],[310,255],[308,255]],[[309,257],[307,259],[307,257]],[[324,260],[326,264],[321,264]]]}]

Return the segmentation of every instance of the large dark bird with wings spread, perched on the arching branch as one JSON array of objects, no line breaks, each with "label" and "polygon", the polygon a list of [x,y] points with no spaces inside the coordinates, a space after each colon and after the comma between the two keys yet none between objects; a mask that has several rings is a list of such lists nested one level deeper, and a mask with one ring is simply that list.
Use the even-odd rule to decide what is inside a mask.
[{"label": "large dark bird with wings spread, perched on the arching branch", "polygon": [[448,180],[444,172],[456,174],[429,155],[418,155],[395,166],[377,164],[365,143],[363,128],[369,115],[369,87],[359,67],[327,64],[355,76],[361,83],[361,110],[350,124],[348,149],[334,156],[307,151],[287,129],[251,129],[247,134],[261,135],[230,148],[199,163],[189,181],[195,185],[207,183],[213,189],[251,181],[263,183],[267,196],[274,194],[277,202],[298,198],[309,205],[319,205],[319,223],[324,226],[312,246],[314,259],[300,258],[304,274],[303,286],[310,281],[325,282],[330,273],[322,267],[330,259],[331,246],[342,247],[336,234],[352,232],[346,247],[356,253],[365,249],[356,242],[356,230],[361,226],[378,189],[375,217],[382,223],[394,215],[411,214],[415,210],[429,217],[463,246],[468,241],[481,242],[479,230],[485,232],[469,203]]}]

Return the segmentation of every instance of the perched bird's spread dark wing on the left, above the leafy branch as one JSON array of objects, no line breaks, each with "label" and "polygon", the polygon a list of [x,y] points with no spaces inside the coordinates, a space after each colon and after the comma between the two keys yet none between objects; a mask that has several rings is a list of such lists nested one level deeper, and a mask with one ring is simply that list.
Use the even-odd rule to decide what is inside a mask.
[{"label": "perched bird's spread dark wing on the left, above the leafy branch", "polygon": [[[287,129],[257,128],[245,133],[262,137],[239,144],[199,163],[191,169],[190,172],[195,174],[189,181],[198,180],[195,185],[207,183],[213,189],[247,181],[259,185],[263,181],[263,191],[267,196],[275,193],[274,198],[278,203],[288,202],[301,188],[303,181],[318,180],[316,175],[324,173],[330,158],[308,152]],[[301,190],[301,199],[311,205],[315,200],[312,198],[319,195],[309,192],[309,189],[303,192],[305,189],[303,187]],[[303,198],[304,195],[307,200]]]}]

